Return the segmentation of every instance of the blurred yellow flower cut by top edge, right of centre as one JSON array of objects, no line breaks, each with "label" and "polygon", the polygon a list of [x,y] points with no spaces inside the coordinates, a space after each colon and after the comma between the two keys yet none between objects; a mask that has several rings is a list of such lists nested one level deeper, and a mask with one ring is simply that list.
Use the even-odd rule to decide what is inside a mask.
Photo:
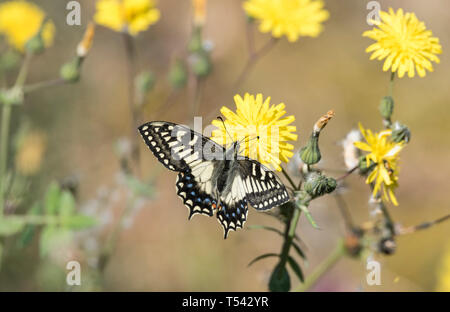
[{"label": "blurred yellow flower cut by top edge, right of centre", "polygon": [[317,37],[328,19],[322,0],[247,0],[244,10],[259,20],[259,30],[272,36],[297,41],[300,36]]}]

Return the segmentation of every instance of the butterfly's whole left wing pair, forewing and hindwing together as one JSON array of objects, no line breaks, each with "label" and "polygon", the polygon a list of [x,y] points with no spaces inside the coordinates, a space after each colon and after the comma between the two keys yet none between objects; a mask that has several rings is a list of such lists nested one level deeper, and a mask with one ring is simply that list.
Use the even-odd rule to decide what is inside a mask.
[{"label": "butterfly's whole left wing pair, forewing and hindwing together", "polygon": [[[195,214],[212,216],[217,199],[212,189],[212,174],[225,149],[188,127],[153,121],[139,127],[145,143],[169,170],[178,171],[177,195]],[[222,154],[221,154],[222,153]]]}]

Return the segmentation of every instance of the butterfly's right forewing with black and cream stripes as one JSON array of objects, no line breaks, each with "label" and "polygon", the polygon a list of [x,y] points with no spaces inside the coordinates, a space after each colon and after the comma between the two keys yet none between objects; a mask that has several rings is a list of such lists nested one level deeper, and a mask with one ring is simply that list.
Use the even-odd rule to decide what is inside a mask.
[{"label": "butterfly's right forewing with black and cream stripes", "polygon": [[268,210],[289,201],[286,187],[275,173],[250,158],[238,163],[247,200],[255,209]]}]

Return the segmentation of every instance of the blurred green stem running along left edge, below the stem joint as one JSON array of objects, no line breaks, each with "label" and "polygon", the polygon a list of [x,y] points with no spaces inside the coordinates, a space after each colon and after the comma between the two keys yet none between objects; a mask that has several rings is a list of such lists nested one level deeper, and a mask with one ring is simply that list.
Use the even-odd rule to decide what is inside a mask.
[{"label": "blurred green stem running along left edge, below the stem joint", "polygon": [[6,165],[8,163],[9,123],[11,120],[11,105],[4,103],[2,108],[2,125],[0,132],[0,217],[5,208]]}]

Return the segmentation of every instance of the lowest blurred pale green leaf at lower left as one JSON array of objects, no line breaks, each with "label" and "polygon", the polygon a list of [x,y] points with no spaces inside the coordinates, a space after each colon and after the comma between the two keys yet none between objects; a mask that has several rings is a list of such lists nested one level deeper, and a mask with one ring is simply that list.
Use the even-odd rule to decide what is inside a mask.
[{"label": "lowest blurred pale green leaf at lower left", "polygon": [[72,240],[72,231],[65,228],[48,225],[41,232],[39,253],[41,257],[47,256],[53,250],[66,246]]}]

